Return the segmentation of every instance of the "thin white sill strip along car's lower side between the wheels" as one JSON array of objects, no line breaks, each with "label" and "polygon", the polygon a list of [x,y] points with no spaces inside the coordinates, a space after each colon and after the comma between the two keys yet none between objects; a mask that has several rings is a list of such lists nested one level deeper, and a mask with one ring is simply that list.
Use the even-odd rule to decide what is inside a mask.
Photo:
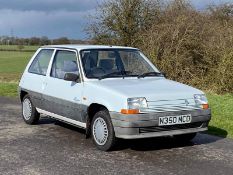
[{"label": "thin white sill strip along car's lower side between the wheels", "polygon": [[71,123],[71,124],[74,124],[74,125],[77,125],[77,126],[80,126],[82,128],[86,128],[86,123],[82,123],[82,122],[79,122],[79,121],[76,121],[76,120],[73,120],[73,119],[70,119],[70,118],[67,118],[67,117],[63,117],[61,115],[57,115],[57,114],[54,114],[52,112],[48,112],[48,111],[45,111],[43,109],[40,109],[40,108],[36,108],[36,110],[41,113],[41,114],[45,114],[45,115],[48,115],[48,116],[51,116],[53,118],[56,118],[56,119],[59,119],[59,120],[63,120],[65,122],[68,122],[68,123]]}]

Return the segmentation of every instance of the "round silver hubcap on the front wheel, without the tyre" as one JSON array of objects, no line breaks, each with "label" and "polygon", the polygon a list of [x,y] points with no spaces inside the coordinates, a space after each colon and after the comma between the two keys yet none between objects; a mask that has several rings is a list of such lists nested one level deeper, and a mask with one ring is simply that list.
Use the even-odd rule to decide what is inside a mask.
[{"label": "round silver hubcap on the front wheel, without the tyre", "polygon": [[104,145],[108,138],[108,127],[104,119],[97,118],[93,124],[93,136],[98,145]]}]

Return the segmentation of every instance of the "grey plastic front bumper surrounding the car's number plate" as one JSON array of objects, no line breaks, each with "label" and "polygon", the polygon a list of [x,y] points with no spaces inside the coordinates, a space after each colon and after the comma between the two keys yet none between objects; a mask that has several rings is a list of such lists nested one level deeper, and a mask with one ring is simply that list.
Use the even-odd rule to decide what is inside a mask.
[{"label": "grey plastic front bumper surrounding the car's number plate", "polygon": [[[159,117],[186,114],[192,115],[191,123],[159,126]],[[194,111],[144,113],[133,115],[110,112],[110,116],[116,137],[124,139],[139,139],[206,131],[211,119],[211,111],[210,109],[200,109]]]}]

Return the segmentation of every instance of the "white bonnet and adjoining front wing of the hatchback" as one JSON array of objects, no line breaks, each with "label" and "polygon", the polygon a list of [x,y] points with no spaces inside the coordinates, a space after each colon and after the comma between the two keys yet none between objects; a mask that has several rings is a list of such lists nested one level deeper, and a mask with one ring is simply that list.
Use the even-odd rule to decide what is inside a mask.
[{"label": "white bonnet and adjoining front wing of the hatchback", "polygon": [[[110,111],[120,112],[127,108],[127,98],[145,97],[147,101],[174,101],[193,99],[194,94],[203,94],[190,86],[159,77],[111,78],[84,82],[84,93],[87,97],[84,104],[100,103]],[[175,104],[174,104],[175,105]]]}]

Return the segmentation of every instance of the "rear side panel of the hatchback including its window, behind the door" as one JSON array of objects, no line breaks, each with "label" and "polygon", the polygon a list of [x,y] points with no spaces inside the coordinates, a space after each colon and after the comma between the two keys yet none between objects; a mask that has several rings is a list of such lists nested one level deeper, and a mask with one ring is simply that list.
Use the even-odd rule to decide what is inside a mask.
[{"label": "rear side panel of the hatchback including its window, behind the door", "polygon": [[20,86],[27,91],[37,107],[41,107],[42,92],[45,88],[46,74],[54,49],[40,49],[28,64]]}]

